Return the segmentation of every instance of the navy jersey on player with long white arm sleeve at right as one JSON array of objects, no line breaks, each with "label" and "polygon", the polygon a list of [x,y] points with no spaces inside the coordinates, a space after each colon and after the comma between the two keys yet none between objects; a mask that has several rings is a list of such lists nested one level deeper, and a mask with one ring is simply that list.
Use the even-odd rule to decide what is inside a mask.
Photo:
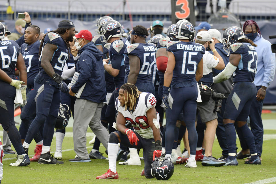
[{"label": "navy jersey on player with long white arm sleeve at right", "polygon": [[234,43],[230,46],[230,54],[240,54],[241,60],[233,74],[233,81],[253,82],[257,70],[257,51],[252,45]]}]

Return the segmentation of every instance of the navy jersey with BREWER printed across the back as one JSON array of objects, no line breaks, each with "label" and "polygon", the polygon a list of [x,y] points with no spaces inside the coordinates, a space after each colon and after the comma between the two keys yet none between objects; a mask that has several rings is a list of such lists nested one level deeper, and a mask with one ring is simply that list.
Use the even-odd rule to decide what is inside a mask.
[{"label": "navy jersey with BREWER printed across the back", "polygon": [[[134,43],[126,48],[125,53],[127,55],[136,55],[140,59],[140,71],[136,83],[152,82],[152,66],[156,63],[155,46],[149,43]],[[125,62],[126,71],[127,68],[129,70],[129,57],[128,63]],[[127,72],[129,74],[129,71]]]}]

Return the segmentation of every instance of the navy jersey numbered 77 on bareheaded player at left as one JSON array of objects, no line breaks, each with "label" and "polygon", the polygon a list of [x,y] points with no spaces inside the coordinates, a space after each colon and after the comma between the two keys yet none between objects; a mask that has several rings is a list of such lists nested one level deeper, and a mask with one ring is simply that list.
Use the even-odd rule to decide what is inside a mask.
[{"label": "navy jersey numbered 77 on bareheaded player at left", "polygon": [[39,72],[39,46],[40,41],[36,41],[31,45],[27,43],[23,43],[20,47],[20,53],[22,54],[25,65],[27,68],[27,87],[34,88],[34,78],[37,76]]}]

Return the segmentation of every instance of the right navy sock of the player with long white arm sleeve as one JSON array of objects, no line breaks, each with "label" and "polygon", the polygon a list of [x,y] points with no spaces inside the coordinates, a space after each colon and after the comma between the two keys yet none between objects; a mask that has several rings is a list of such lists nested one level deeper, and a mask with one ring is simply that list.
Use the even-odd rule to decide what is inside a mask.
[{"label": "right navy sock of the player with long white arm sleeve", "polygon": [[[256,146],[255,146],[255,141],[254,141],[254,136],[253,136],[251,130],[248,128],[247,124],[245,124],[242,127],[239,127],[239,130],[242,133],[242,136],[243,136],[243,138],[246,142],[246,145],[248,145],[248,148],[250,150],[250,154],[257,153]],[[256,155],[256,157],[254,157],[254,156],[251,156],[251,158],[253,157],[252,159],[255,160],[258,155]]]}]

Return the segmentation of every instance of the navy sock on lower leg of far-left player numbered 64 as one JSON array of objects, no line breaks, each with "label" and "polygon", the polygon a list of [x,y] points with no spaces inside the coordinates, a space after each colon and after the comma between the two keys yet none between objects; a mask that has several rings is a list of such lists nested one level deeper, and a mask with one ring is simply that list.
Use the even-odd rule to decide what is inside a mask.
[{"label": "navy sock on lower leg of far-left player numbered 64", "polygon": [[12,145],[14,146],[14,149],[18,155],[25,154],[22,143],[21,143],[21,137],[18,129],[16,128],[15,124],[11,125],[6,129],[7,134],[9,136],[9,140],[11,140]]}]

